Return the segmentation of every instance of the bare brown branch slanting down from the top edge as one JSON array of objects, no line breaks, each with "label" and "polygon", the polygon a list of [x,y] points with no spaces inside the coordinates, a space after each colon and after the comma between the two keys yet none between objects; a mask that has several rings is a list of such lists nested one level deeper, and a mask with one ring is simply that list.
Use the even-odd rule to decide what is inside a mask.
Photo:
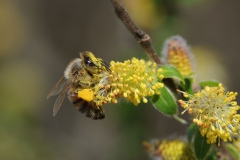
[{"label": "bare brown branch slanting down from the top edge", "polygon": [[113,7],[115,9],[115,13],[118,18],[124,23],[127,29],[132,33],[134,38],[140,44],[142,49],[146,52],[146,54],[158,65],[161,64],[161,60],[158,57],[155,49],[152,46],[151,38],[148,34],[140,30],[132,21],[130,16],[128,15],[125,7],[120,2],[120,0],[111,0]]}]

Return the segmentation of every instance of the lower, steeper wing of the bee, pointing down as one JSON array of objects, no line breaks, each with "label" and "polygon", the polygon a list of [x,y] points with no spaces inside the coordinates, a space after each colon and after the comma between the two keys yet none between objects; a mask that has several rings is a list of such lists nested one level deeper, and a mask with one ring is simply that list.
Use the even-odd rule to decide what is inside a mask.
[{"label": "lower, steeper wing of the bee, pointing down", "polygon": [[53,116],[55,116],[57,114],[58,110],[60,109],[70,86],[71,86],[71,81],[69,81],[65,85],[65,87],[61,90],[61,93],[58,95],[58,97],[54,103],[54,106],[53,106]]}]

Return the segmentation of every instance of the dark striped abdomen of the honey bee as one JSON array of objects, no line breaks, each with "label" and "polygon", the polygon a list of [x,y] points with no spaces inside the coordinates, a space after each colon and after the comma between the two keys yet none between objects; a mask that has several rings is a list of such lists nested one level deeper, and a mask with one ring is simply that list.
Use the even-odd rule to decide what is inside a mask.
[{"label": "dark striped abdomen of the honey bee", "polygon": [[93,119],[103,119],[105,117],[102,107],[97,107],[94,102],[87,102],[82,98],[79,98],[77,93],[75,93],[75,89],[69,90],[68,98],[77,110],[81,113],[85,113],[87,117]]}]

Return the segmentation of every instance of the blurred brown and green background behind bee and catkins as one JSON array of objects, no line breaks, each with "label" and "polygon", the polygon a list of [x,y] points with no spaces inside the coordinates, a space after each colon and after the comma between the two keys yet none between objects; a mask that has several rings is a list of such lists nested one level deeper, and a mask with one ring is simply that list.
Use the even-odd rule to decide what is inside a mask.
[{"label": "blurred brown and green background behind bee and catkins", "polygon": [[[181,35],[197,62],[198,81],[215,79],[240,92],[240,1],[123,0],[161,53]],[[0,1],[0,159],[148,159],[142,141],[185,135],[187,125],[122,101],[94,121],[66,99],[46,99],[68,62],[92,51],[107,63],[147,58],[109,0]],[[184,118],[188,118],[185,116]]]}]

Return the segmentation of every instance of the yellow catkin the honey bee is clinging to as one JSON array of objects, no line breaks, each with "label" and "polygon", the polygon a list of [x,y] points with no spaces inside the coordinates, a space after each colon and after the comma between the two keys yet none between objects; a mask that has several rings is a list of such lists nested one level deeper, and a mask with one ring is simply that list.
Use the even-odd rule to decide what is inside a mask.
[{"label": "yellow catkin the honey bee is clinging to", "polygon": [[[132,58],[124,62],[112,61],[110,64],[111,74],[103,75],[103,80],[97,85],[99,88],[94,90],[94,95],[97,95],[95,102],[117,103],[115,99],[126,98],[138,105],[147,103],[149,96],[161,94],[160,89],[164,87],[161,80],[164,76],[161,74],[163,70],[156,63]],[[110,87],[103,87],[106,85]]]}]

